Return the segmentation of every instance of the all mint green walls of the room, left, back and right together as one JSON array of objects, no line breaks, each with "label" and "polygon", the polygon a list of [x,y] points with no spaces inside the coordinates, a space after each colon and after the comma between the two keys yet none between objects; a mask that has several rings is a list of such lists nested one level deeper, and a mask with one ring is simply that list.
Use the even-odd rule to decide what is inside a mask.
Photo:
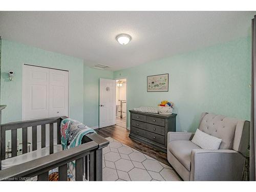
[{"label": "all mint green walls of the room, left, back and right together", "polygon": [[[70,71],[70,117],[98,126],[99,78],[127,77],[127,108],[175,102],[178,131],[195,131],[201,112],[250,119],[251,39],[241,38],[117,72],[87,67],[82,59],[2,41],[3,122],[22,119],[22,65]],[[15,76],[9,81],[7,72]],[[146,76],[169,73],[169,92],[147,93]],[[128,121],[129,122],[129,121]],[[129,124],[128,124],[129,125]]]}]

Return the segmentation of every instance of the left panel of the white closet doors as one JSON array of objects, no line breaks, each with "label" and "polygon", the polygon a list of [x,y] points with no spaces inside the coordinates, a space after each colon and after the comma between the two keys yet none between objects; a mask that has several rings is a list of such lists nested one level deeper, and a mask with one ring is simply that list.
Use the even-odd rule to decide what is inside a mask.
[{"label": "left panel of the white closet doors", "polygon": [[23,68],[23,120],[49,117],[49,69]]}]

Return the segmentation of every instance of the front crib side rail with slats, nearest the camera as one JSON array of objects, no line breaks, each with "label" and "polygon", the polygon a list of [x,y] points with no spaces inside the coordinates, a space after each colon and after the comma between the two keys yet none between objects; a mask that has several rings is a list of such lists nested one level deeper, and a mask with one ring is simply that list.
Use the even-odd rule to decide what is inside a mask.
[{"label": "front crib side rail with slats, nearest the camera", "polygon": [[[48,181],[49,170],[58,167],[59,181],[67,181],[67,163],[76,162],[75,179],[83,180],[83,158],[97,151],[98,143],[90,141],[68,150],[41,157],[23,164],[15,165],[0,171],[0,180],[23,181],[37,176],[37,181]],[[91,163],[94,163],[93,161]],[[94,169],[91,170],[94,172]],[[97,180],[95,173],[90,174],[90,180]]]}]

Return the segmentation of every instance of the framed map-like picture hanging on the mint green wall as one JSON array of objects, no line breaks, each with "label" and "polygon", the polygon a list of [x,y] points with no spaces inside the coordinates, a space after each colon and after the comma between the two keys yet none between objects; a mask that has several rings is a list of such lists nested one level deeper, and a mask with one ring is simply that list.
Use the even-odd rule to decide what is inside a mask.
[{"label": "framed map-like picture hanging on the mint green wall", "polygon": [[168,92],[169,74],[147,76],[147,92]]}]

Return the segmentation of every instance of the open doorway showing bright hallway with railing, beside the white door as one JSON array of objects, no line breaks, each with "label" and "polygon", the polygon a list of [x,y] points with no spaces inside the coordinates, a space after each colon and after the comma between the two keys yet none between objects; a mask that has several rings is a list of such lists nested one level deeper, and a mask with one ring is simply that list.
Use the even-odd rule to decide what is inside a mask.
[{"label": "open doorway showing bright hallway with railing, beside the white door", "polygon": [[116,80],[116,125],[126,129],[126,78]]}]

